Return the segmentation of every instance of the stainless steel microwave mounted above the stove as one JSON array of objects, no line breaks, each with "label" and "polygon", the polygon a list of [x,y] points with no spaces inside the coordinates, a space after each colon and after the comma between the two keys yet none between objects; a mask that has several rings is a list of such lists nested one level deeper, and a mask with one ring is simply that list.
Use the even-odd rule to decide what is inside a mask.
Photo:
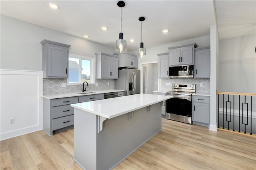
[{"label": "stainless steel microwave mounted above the stove", "polygon": [[169,78],[194,78],[194,65],[169,67]]}]

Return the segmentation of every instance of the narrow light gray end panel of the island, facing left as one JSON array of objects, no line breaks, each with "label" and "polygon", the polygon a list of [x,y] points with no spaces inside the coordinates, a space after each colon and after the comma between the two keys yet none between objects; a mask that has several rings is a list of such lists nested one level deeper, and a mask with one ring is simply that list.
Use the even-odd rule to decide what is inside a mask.
[{"label": "narrow light gray end panel of the island, facing left", "polygon": [[96,170],[97,115],[74,108],[74,160],[83,169]]}]

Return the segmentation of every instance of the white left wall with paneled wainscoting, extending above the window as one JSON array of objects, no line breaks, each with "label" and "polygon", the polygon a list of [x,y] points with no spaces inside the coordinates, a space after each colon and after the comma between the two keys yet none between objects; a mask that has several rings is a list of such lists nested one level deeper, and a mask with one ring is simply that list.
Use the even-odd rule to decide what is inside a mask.
[{"label": "white left wall with paneled wainscoting, extending above the window", "polygon": [[[42,121],[40,118],[42,78],[39,83],[33,79],[34,76],[24,76],[25,73],[22,74],[22,72],[24,70],[36,71],[39,75],[42,71],[42,45],[40,42],[43,39],[69,44],[71,45],[70,53],[88,57],[95,57],[96,52],[112,54],[115,49],[7,16],[1,15],[0,17],[0,140],[3,140],[42,129],[40,123]],[[9,72],[21,71],[15,75],[12,73],[2,75],[2,69],[8,69]],[[31,80],[28,78],[30,76],[32,76]],[[17,102],[21,103],[17,104]],[[14,124],[9,124],[10,118],[15,118]]]}]

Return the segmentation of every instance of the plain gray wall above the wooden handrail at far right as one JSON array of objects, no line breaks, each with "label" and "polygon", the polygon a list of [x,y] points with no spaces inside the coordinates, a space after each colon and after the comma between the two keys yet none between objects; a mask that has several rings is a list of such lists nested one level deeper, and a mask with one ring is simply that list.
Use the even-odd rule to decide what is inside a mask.
[{"label": "plain gray wall above the wooden handrail at far right", "polygon": [[219,43],[218,91],[256,93],[256,34]]}]

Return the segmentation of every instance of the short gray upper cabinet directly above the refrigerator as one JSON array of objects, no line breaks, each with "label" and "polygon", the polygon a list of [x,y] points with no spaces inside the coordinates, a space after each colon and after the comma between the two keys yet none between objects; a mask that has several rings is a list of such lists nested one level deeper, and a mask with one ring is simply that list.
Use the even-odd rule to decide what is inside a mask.
[{"label": "short gray upper cabinet directly above the refrigerator", "polygon": [[119,68],[138,68],[138,57],[130,53],[114,53],[119,57]]}]

